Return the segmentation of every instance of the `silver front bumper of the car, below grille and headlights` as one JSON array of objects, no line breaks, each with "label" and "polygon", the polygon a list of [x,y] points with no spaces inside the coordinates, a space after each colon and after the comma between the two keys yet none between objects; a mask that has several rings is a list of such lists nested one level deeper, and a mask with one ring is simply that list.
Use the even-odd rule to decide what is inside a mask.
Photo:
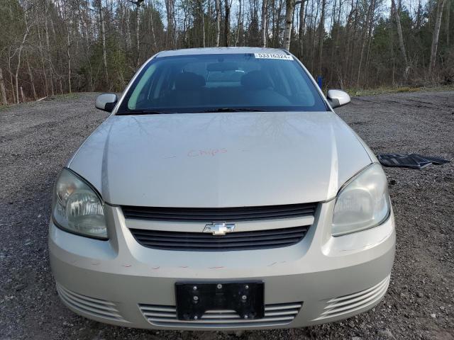
[{"label": "silver front bumper of the car, below grille and headlights", "polygon": [[[121,209],[106,213],[109,241],[88,239],[50,223],[50,263],[57,290],[84,317],[146,329],[270,329],[331,322],[369,310],[381,300],[394,261],[391,212],[382,225],[331,237],[333,200],[295,244],[252,251],[167,251],[140,246]],[[178,281],[265,283],[265,319],[234,315],[193,322],[175,317]]]}]

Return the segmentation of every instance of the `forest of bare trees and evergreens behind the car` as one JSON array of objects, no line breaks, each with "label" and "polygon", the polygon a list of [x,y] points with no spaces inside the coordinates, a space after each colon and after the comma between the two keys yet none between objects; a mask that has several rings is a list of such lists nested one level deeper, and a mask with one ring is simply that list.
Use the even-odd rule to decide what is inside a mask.
[{"label": "forest of bare trees and evergreens behind the car", "polygon": [[323,86],[454,83],[454,0],[0,0],[0,105],[123,91],[160,50],[279,47]]}]

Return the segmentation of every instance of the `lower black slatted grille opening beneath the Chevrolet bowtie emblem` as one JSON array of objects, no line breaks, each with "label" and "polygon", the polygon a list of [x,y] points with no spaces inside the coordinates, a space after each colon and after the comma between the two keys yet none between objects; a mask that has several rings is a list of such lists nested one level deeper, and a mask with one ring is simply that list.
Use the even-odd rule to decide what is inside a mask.
[{"label": "lower black slatted grille opening beneath the Chevrolet bowtie emblem", "polygon": [[204,232],[165,232],[130,229],[143,246],[165,250],[230,251],[291,246],[303,239],[309,226],[233,232],[214,236]]}]

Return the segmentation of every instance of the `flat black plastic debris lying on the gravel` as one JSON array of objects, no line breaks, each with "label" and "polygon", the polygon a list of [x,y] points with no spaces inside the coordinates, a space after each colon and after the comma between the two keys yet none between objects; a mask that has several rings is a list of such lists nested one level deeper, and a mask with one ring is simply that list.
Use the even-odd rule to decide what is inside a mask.
[{"label": "flat black plastic debris lying on the gravel", "polygon": [[422,154],[377,154],[377,158],[383,166],[402,166],[411,169],[424,169],[431,164],[439,165],[450,162],[448,159],[423,156]]}]

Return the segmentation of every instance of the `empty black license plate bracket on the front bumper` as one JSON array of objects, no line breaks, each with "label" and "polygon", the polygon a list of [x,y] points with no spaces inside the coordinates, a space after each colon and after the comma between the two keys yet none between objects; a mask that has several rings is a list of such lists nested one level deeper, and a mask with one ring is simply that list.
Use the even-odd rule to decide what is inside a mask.
[{"label": "empty black license plate bracket on the front bumper", "polygon": [[200,320],[207,310],[234,310],[241,319],[265,317],[264,284],[175,283],[179,320]]}]

